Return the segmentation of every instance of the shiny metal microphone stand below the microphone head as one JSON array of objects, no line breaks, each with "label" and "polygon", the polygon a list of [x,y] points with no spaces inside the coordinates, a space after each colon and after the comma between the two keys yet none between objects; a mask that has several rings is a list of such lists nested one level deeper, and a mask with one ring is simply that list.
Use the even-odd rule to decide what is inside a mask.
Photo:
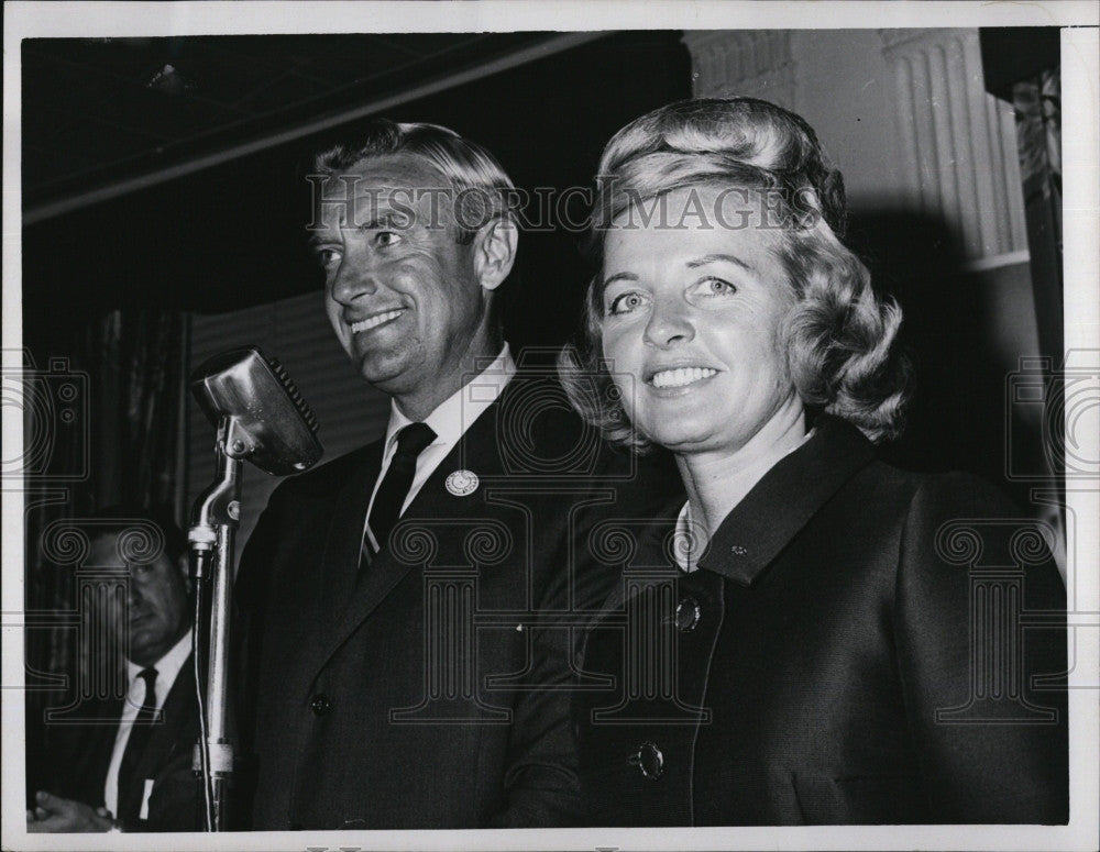
[{"label": "shiny metal microphone stand below the microphone head", "polygon": [[[234,417],[221,417],[216,446],[217,478],[195,501],[188,542],[194,556],[196,611],[196,686],[207,673],[207,688],[199,691],[200,740],[193,768],[201,776],[206,830],[224,831],[229,782],[233,774],[233,743],[229,737],[229,619],[232,593],[233,542],[241,518],[241,461],[252,452],[252,441]],[[201,612],[210,589],[209,643],[199,651],[204,628]],[[205,659],[204,659],[205,657]],[[205,666],[202,664],[206,664]]]}]

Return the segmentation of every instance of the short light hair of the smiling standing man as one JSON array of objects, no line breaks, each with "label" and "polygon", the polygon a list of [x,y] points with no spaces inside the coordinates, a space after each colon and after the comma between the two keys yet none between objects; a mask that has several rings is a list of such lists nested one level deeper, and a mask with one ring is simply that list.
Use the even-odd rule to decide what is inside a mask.
[{"label": "short light hair of the smiling standing man", "polygon": [[431,189],[451,197],[460,243],[471,243],[477,231],[493,219],[515,221],[512,212],[515,185],[496,157],[476,142],[439,124],[375,119],[355,143],[333,145],[318,153],[314,168],[320,175],[331,176],[345,173],[364,159],[393,154],[420,157],[439,171],[444,185]]}]

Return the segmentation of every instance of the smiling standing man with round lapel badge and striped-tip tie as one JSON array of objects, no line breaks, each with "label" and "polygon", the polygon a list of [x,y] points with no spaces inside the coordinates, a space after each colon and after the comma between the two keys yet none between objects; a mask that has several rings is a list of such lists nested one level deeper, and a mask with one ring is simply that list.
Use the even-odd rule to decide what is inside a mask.
[{"label": "smiling standing man with round lapel badge and striped-tip tie", "polygon": [[252,827],[568,825],[572,643],[601,597],[573,555],[647,489],[550,375],[517,372],[492,155],[377,122],[316,170],[329,319],[393,405],[382,440],[280,485],[242,554]]}]

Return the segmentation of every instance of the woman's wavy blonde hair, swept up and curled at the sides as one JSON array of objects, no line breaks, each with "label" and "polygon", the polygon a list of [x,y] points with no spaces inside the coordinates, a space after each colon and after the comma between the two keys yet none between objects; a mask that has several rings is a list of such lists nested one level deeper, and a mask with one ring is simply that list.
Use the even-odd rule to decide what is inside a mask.
[{"label": "woman's wavy blonde hair, swept up and curled at the sides", "polygon": [[[604,237],[620,213],[691,186],[744,189],[778,214],[774,250],[794,303],[781,322],[787,367],[811,412],[847,420],[875,442],[903,428],[909,362],[895,345],[901,309],[880,299],[867,267],[842,242],[844,179],[817,136],[793,112],[755,98],[698,99],[662,107],[623,128],[604,150],[588,221],[597,270]],[[601,347],[602,276],[593,276],[581,340],[559,358],[574,407],[604,436],[645,449],[630,424]]]}]

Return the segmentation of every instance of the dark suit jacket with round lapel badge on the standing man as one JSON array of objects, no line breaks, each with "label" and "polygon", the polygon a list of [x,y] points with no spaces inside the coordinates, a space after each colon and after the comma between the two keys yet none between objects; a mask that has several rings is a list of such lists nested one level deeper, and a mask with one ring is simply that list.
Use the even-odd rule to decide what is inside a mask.
[{"label": "dark suit jacket with round lapel badge on the standing man", "polygon": [[[560,386],[520,374],[356,577],[382,454],[283,483],[242,554],[252,828],[574,821],[570,612],[588,601],[591,618],[607,590],[585,590],[576,542],[649,491]],[[449,491],[458,471],[476,490]]]}]

